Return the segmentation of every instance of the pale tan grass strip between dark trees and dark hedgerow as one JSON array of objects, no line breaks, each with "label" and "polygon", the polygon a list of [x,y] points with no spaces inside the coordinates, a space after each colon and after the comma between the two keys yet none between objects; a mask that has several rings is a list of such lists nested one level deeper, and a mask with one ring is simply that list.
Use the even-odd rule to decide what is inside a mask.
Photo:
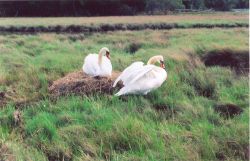
[{"label": "pale tan grass strip between dark trees and dark hedgerow", "polygon": [[215,12],[204,14],[177,14],[168,16],[109,16],[109,17],[69,17],[69,18],[0,18],[0,26],[67,26],[127,23],[178,23],[178,24],[218,24],[248,23],[248,13]]}]

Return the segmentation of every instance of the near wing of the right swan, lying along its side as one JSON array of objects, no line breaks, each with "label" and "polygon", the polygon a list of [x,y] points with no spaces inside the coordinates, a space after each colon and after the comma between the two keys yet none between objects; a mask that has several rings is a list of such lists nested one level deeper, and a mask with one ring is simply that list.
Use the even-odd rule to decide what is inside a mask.
[{"label": "near wing of the right swan, lying along its side", "polygon": [[137,80],[148,76],[147,74],[151,72],[155,68],[154,65],[146,65],[142,69],[136,70],[136,72],[133,73],[134,77],[132,80],[129,82],[129,84],[132,84],[136,82]]}]

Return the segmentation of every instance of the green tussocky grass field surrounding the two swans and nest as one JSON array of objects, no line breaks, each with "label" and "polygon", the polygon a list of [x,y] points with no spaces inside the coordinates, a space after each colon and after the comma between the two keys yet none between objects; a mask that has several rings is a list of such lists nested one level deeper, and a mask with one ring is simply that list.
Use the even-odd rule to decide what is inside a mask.
[{"label": "green tussocky grass field surrounding the two swans and nest", "polygon": [[[246,16],[227,20],[242,19]],[[7,104],[0,109],[0,160],[248,160],[248,76],[202,61],[214,50],[248,51],[248,36],[247,28],[2,34],[0,92]],[[81,70],[84,57],[103,46],[120,71],[162,54],[167,81],[147,96],[50,100],[48,86]],[[227,103],[243,113],[226,118],[214,110]],[[16,108],[22,118],[18,125]]]}]

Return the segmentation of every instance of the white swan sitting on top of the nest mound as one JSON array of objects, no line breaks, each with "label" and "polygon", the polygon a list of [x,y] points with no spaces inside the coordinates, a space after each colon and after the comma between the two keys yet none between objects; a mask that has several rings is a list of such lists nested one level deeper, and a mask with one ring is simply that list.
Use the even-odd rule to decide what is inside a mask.
[{"label": "white swan sitting on top of the nest mound", "polygon": [[89,54],[84,59],[83,72],[90,76],[110,77],[112,74],[112,65],[110,61],[110,52],[106,47],[101,48],[99,54]]}]

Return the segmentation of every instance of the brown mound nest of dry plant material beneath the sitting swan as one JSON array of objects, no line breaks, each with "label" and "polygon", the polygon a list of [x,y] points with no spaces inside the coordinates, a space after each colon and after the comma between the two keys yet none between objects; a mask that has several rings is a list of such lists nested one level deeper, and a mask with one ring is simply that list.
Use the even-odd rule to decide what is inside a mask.
[{"label": "brown mound nest of dry plant material beneath the sitting swan", "polygon": [[[91,77],[83,71],[77,71],[67,74],[52,83],[49,87],[49,93],[52,98],[67,95],[88,95],[91,93],[112,94],[114,80],[120,75],[120,72],[113,72],[112,77]],[[121,84],[118,84],[118,87]]]}]

